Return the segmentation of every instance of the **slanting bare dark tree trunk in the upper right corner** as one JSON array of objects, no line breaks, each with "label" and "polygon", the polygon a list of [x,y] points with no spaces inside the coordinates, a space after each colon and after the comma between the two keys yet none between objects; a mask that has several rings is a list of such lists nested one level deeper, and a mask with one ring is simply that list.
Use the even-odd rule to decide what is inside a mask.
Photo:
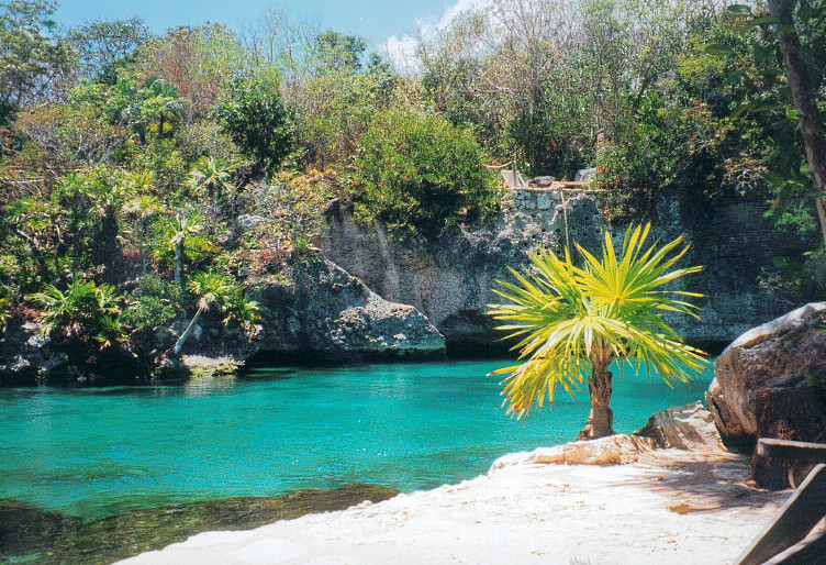
[{"label": "slanting bare dark tree trunk in the upper right corner", "polygon": [[826,195],[826,130],[818,120],[817,99],[806,66],[801,58],[801,43],[794,27],[796,0],[769,0],[769,12],[780,23],[778,45],[783,54],[785,76],[792,91],[792,102],[797,112],[803,145],[806,149],[808,168],[812,169],[815,186],[821,197],[817,201],[818,218],[824,243],[826,243],[826,218],[823,214],[823,196]]}]

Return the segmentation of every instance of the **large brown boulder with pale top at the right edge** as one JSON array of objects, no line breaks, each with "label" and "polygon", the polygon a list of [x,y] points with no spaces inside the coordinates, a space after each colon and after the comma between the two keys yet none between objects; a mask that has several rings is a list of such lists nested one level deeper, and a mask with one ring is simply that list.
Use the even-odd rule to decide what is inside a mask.
[{"label": "large brown boulder with pale top at the right edge", "polygon": [[706,403],[724,439],[826,440],[826,303],[735,340],[714,363]]}]

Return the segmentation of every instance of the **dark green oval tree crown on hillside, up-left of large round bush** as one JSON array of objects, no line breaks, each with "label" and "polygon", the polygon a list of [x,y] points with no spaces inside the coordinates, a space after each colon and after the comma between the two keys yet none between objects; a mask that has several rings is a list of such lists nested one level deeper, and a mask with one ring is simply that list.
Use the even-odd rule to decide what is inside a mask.
[{"label": "dark green oval tree crown on hillside, up-left of large round bush", "polygon": [[234,80],[215,115],[260,173],[278,168],[293,151],[293,117],[281,101],[278,82],[269,77]]}]

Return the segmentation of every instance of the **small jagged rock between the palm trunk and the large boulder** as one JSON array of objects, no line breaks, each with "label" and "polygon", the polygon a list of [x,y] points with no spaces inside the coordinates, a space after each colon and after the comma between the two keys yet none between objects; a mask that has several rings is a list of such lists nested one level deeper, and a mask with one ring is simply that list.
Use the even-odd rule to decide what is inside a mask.
[{"label": "small jagged rock between the palm trunk and the large boulder", "polygon": [[645,428],[634,432],[650,437],[658,450],[719,451],[723,442],[712,413],[697,401],[655,412]]}]

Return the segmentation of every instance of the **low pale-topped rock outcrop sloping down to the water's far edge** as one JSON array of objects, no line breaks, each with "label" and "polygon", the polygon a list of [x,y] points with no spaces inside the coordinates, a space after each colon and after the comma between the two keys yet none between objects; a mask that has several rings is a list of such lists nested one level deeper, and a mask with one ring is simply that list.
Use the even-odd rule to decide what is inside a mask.
[{"label": "low pale-topped rock outcrop sloping down to the water's far edge", "polygon": [[443,356],[445,340],[412,306],[389,302],[323,258],[294,267],[290,284],[269,282],[259,296],[263,320],[253,336],[204,320],[185,354],[253,363],[346,363]]}]

